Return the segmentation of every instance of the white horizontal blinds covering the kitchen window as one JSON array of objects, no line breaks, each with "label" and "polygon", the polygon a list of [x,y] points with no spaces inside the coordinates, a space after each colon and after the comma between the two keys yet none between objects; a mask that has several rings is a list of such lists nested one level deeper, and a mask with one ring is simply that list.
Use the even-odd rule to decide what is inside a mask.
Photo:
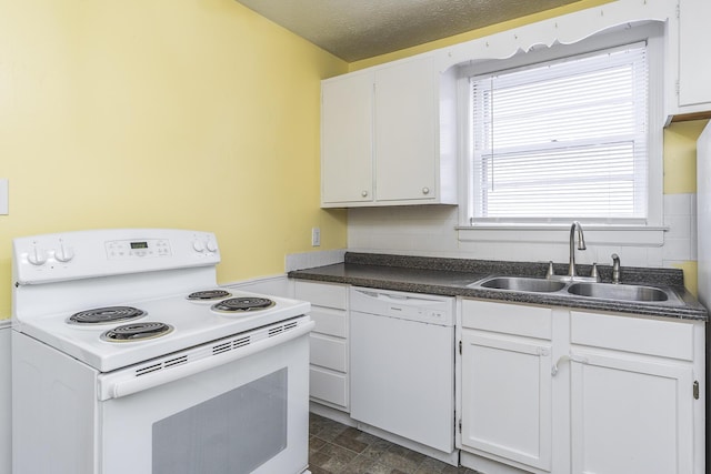
[{"label": "white horizontal blinds covering the kitchen window", "polygon": [[647,218],[645,49],[470,78],[474,222]]}]

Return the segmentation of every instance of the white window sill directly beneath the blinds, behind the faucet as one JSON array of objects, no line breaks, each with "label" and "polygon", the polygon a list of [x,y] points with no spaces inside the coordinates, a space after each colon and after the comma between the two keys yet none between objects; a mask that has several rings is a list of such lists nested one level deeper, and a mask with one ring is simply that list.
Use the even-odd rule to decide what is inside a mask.
[{"label": "white window sill directly beneath the blinds, behind the faucet", "polygon": [[[662,246],[665,226],[582,224],[585,241],[597,245]],[[457,226],[461,242],[569,242],[570,224],[477,224]]]}]

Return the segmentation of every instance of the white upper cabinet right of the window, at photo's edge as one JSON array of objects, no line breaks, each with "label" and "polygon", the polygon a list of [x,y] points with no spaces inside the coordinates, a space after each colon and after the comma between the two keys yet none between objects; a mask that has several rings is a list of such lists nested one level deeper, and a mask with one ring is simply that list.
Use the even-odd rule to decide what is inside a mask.
[{"label": "white upper cabinet right of the window, at photo's edge", "polygon": [[680,0],[678,18],[670,22],[670,71],[675,78],[668,88],[670,114],[711,111],[711,2]]}]

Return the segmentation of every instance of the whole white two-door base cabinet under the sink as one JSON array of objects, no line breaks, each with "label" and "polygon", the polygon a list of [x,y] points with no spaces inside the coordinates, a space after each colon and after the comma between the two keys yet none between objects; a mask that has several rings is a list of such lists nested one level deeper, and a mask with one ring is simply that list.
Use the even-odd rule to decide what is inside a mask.
[{"label": "whole white two-door base cabinet under the sink", "polygon": [[702,474],[704,324],[462,300],[462,464]]}]

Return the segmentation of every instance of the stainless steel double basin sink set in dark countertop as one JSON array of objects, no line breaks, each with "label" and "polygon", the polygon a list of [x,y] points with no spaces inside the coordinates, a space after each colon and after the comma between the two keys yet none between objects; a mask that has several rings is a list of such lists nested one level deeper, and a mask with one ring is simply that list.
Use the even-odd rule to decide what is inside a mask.
[{"label": "stainless steel double basin sink set in dark countertop", "polygon": [[554,293],[557,295],[583,296],[598,300],[625,301],[683,305],[671,289],[597,282],[558,281],[527,276],[489,276],[471,283],[469,288],[503,290],[528,293]]}]

